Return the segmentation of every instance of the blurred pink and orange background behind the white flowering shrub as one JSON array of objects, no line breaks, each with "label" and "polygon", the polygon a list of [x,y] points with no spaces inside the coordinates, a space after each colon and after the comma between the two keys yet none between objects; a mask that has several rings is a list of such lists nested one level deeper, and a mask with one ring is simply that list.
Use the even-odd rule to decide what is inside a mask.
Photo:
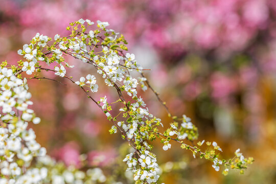
[{"label": "blurred pink and orange background behind the white flowering shrub", "polygon": [[[200,139],[216,141],[229,158],[237,148],[255,163],[244,175],[222,176],[212,163],[190,152],[154,151],[166,183],[276,183],[276,3],[274,0],[0,0],[0,61],[15,63],[17,50],[37,33],[66,35],[80,18],[108,21],[125,35],[129,51],[174,112],[187,114]],[[73,59],[69,59],[74,63]],[[83,64],[68,75],[95,73]],[[44,73],[48,77],[53,74]],[[131,183],[123,156],[128,146],[76,86],[29,81],[33,108],[42,122],[33,127],[38,142],[67,165],[99,166],[107,176]],[[63,81],[65,82],[65,81]],[[100,86],[94,97],[114,91]],[[150,91],[149,109],[169,125],[165,109]]]}]

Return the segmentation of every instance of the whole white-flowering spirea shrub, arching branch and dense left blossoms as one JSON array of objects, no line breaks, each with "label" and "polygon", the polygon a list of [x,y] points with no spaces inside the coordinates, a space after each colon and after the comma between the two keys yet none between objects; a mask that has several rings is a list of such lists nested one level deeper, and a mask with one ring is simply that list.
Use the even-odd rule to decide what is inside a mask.
[{"label": "whole white-flowering spirea shrub, arching branch and dense left blossoms", "polygon": [[[10,65],[6,61],[1,64],[0,72],[0,184],[2,183],[102,183],[106,177],[100,168],[76,169],[74,166],[56,162],[47,155],[45,148],[36,142],[36,135],[28,124],[38,124],[32,105],[31,94],[28,92],[28,79],[49,79],[40,75],[42,70],[47,71],[79,86],[87,97],[95,102],[106,118],[110,121],[111,134],[120,134],[134,150],[127,154],[125,162],[133,174],[135,183],[156,183],[159,178],[158,158],[152,152],[152,141],[159,140],[164,144],[164,151],[171,148],[171,142],[190,151],[193,156],[205,158],[212,162],[212,167],[226,175],[229,169],[238,169],[243,172],[253,158],[245,158],[240,149],[237,149],[233,158],[220,158],[222,149],[216,142],[199,141],[197,127],[191,119],[171,116],[166,104],[159,98],[157,92],[143,74],[143,67],[137,63],[134,54],[127,52],[127,41],[123,35],[107,29],[108,22],[80,19],[72,22],[66,29],[70,35],[54,39],[37,33],[29,44],[23,45],[18,54],[22,60],[17,65]],[[104,84],[99,84],[95,73],[83,74],[80,79],[67,76],[68,70],[74,70],[74,65],[66,62],[64,56],[71,56],[78,60],[76,64],[89,64],[96,68],[95,72],[104,78]],[[42,63],[54,65],[54,70],[42,67]],[[53,68],[53,67],[52,67]],[[22,78],[22,73],[31,75]],[[139,74],[139,77],[134,77]],[[94,98],[98,88],[103,85],[114,89],[118,100],[111,102],[106,96],[100,101]],[[154,117],[143,98],[137,93],[137,88],[151,90],[168,111],[172,118],[166,131],[159,131],[162,120]],[[126,100],[130,99],[130,100]],[[120,109],[114,114],[111,104],[117,103]],[[112,111],[112,112],[111,112]],[[116,136],[116,135],[114,135]],[[118,135],[117,135],[118,136]],[[187,140],[186,142],[183,142]],[[191,143],[191,144],[188,144]],[[206,149],[201,149],[205,144]],[[85,158],[83,158],[85,159]]]}]

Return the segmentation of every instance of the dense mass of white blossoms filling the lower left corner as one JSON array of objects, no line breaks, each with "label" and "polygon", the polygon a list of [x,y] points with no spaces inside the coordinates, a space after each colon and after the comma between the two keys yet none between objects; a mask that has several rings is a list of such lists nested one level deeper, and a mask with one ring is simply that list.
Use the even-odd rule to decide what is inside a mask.
[{"label": "dense mass of white blossoms filling the lower left corner", "polygon": [[[86,173],[75,168],[64,167],[59,175],[55,161],[46,155],[46,149],[36,142],[36,135],[28,123],[38,124],[40,118],[28,106],[31,94],[24,80],[7,67],[0,70],[0,106],[2,107],[0,127],[0,183],[84,183],[85,180],[104,182],[101,169],[89,169]],[[16,111],[16,112],[15,112]],[[38,159],[32,168],[34,158]]]}]

